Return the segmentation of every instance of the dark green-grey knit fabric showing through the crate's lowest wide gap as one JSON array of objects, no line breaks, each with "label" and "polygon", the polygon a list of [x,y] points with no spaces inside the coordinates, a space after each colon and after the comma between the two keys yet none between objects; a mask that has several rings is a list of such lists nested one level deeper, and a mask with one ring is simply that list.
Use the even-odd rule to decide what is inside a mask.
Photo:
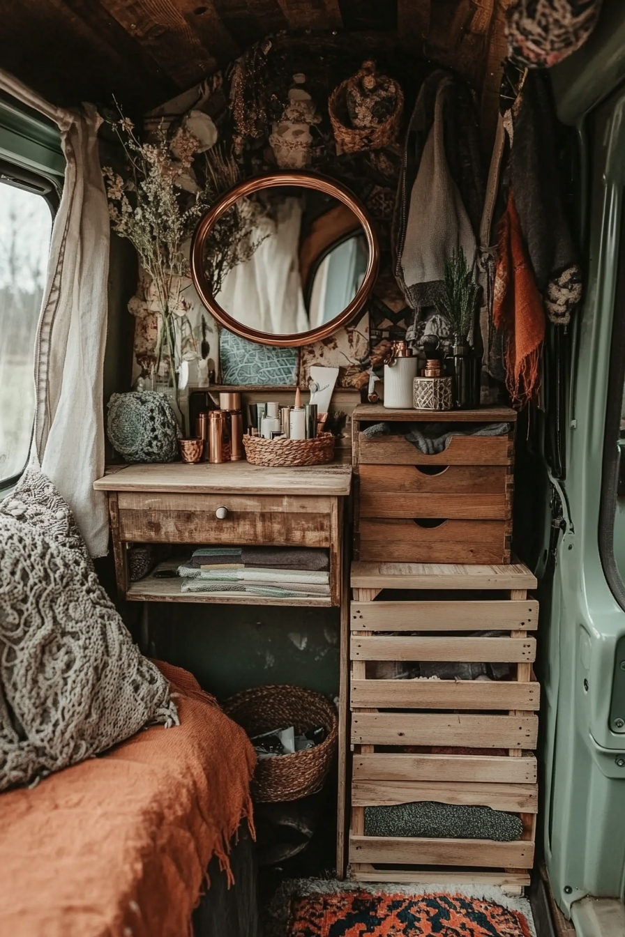
[{"label": "dark green-grey knit fabric showing through the crate's lowest wide gap", "polygon": [[365,807],[365,836],[410,836],[450,840],[518,840],[521,818],[490,807],[418,801]]}]

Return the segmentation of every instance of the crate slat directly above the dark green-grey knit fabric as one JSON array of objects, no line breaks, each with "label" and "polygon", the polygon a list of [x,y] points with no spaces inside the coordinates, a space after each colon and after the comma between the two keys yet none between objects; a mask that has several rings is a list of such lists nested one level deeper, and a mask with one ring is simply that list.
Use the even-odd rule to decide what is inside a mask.
[{"label": "crate slat directly above the dark green-grey knit fabric", "polygon": [[[516,761],[516,758],[511,761]],[[441,804],[492,807],[494,811],[538,812],[537,784],[464,781],[359,781],[351,784],[353,807],[379,807],[435,800]]]}]

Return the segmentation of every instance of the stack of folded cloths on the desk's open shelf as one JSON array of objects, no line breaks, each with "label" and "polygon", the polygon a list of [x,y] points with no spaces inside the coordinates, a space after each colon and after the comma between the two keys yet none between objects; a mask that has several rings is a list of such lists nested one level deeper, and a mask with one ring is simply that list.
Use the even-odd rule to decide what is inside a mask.
[{"label": "stack of folded cloths on the desk's open shelf", "polygon": [[303,547],[202,547],[178,567],[183,592],[245,592],[275,598],[330,595],[326,550]]}]

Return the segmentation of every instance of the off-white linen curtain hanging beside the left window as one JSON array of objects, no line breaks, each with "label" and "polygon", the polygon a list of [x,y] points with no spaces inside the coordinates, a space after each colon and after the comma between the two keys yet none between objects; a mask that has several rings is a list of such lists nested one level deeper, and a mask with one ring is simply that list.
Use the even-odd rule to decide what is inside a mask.
[{"label": "off-white linen curtain hanging beside the left window", "polygon": [[54,107],[0,71],[0,89],[45,114],[61,131],[67,160],[52,227],[35,352],[35,431],[29,459],[70,506],[92,557],[108,551],[102,375],[107,327],[110,223],[97,151],[100,118]]}]

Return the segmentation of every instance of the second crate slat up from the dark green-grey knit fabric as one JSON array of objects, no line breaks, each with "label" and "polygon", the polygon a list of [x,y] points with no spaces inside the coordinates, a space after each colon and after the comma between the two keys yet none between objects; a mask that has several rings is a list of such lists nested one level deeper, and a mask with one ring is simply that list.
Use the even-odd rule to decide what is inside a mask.
[{"label": "second crate slat up from the dark green-grey knit fabric", "polygon": [[484,783],[534,784],[536,758],[524,752],[520,758],[500,755],[450,754],[355,754],[353,782],[365,781],[482,781]]}]

